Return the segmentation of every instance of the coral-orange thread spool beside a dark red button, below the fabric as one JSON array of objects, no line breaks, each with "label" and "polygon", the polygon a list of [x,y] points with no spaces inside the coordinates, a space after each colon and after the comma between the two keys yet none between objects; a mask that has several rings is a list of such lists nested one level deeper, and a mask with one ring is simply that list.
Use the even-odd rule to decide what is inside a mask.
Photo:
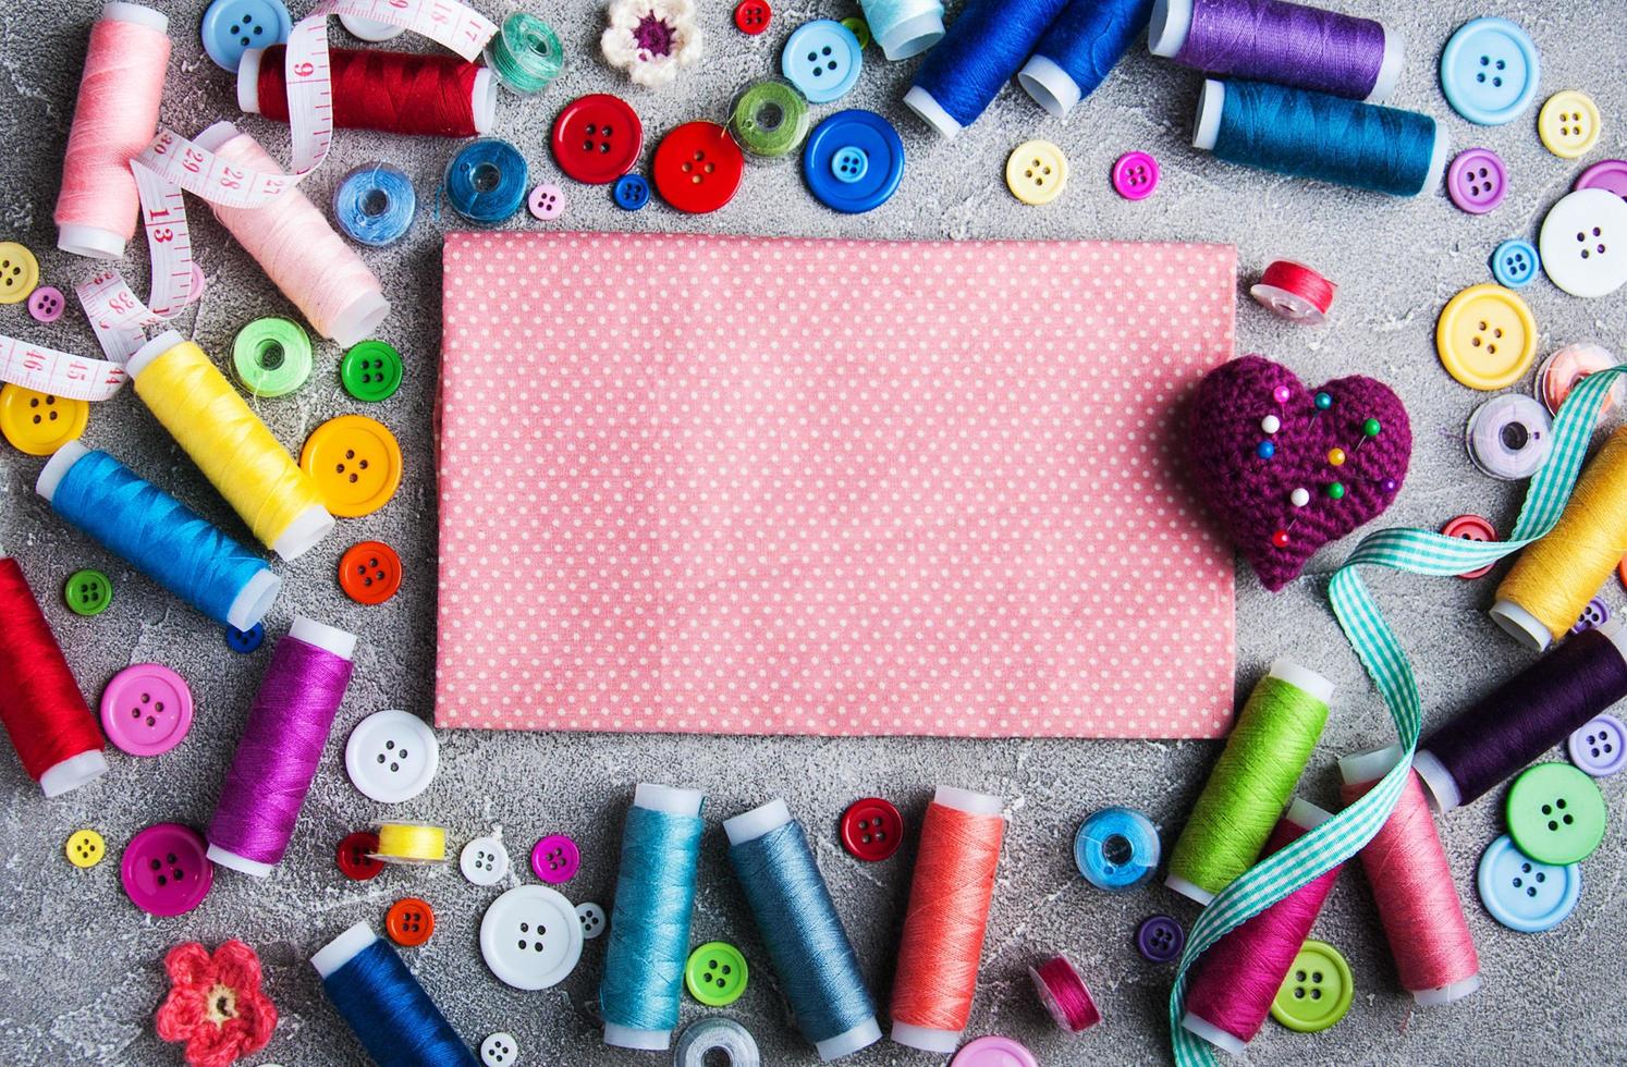
[{"label": "coral-orange thread spool beside a dark red button, below the fabric", "polygon": [[960,1044],[1004,831],[999,797],[939,786],[926,807],[893,976],[893,1041],[945,1054]]}]

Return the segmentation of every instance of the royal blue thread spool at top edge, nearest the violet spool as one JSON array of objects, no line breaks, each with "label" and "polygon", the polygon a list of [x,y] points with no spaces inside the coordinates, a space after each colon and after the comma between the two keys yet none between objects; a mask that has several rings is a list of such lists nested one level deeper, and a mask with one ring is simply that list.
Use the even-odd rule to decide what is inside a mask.
[{"label": "royal blue thread spool at top edge, nearest the violet spool", "polygon": [[1106,81],[1149,18],[1152,0],[1069,0],[1017,81],[1036,104],[1062,117]]}]

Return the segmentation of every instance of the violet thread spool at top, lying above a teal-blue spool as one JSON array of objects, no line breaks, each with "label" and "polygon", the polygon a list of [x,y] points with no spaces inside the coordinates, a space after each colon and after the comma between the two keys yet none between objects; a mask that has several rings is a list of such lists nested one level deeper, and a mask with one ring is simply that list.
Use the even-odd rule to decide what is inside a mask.
[{"label": "violet thread spool at top, lying above a teal-blue spool", "polygon": [[1155,0],[1147,47],[1212,75],[1368,104],[1389,99],[1406,57],[1383,23],[1285,0]]}]

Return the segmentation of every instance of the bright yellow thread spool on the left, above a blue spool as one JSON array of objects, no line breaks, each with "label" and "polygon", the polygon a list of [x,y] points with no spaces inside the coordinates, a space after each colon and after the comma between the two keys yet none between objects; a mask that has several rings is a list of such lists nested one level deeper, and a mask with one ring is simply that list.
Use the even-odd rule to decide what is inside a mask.
[{"label": "bright yellow thread spool on the left, above a blue spool", "polygon": [[309,475],[202,348],[164,330],[130,356],[125,371],[135,394],[260,543],[294,560],[334,529]]}]

